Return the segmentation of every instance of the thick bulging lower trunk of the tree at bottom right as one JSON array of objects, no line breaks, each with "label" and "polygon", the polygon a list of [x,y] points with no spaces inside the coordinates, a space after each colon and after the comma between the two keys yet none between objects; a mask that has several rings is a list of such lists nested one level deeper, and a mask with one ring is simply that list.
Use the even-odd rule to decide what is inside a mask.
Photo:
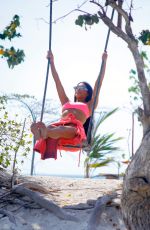
[{"label": "thick bulging lower trunk of the tree at bottom right", "polygon": [[150,229],[150,132],[126,170],[121,203],[129,230]]}]

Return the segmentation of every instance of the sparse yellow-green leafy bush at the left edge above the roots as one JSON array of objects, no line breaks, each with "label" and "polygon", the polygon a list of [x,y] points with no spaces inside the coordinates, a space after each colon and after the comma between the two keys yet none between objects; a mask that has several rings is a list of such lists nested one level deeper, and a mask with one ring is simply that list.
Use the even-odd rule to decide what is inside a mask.
[{"label": "sparse yellow-green leafy bush at the left edge above the roots", "polygon": [[9,113],[5,108],[6,99],[0,98],[0,166],[7,168],[13,160],[14,154],[19,149],[22,156],[27,156],[30,151],[31,141],[25,131],[22,132],[23,125],[15,119],[9,118]]}]

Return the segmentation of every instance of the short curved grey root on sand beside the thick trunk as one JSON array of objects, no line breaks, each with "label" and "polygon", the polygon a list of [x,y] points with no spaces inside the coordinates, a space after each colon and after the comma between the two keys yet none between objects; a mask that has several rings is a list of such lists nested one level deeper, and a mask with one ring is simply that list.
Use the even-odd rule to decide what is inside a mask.
[{"label": "short curved grey root on sand beside the thick trunk", "polygon": [[104,195],[97,199],[94,210],[88,222],[87,230],[96,230],[99,224],[100,217],[104,212],[106,205],[117,196],[117,193]]}]

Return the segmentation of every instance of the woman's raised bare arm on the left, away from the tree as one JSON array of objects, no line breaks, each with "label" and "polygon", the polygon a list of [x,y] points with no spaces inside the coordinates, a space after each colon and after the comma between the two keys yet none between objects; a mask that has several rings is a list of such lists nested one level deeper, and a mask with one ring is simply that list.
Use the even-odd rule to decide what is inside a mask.
[{"label": "woman's raised bare arm on the left, away from the tree", "polygon": [[64,87],[63,87],[63,85],[62,85],[62,83],[60,81],[60,78],[58,76],[58,73],[56,71],[55,64],[54,64],[54,56],[53,56],[51,51],[48,51],[47,58],[50,59],[50,66],[51,66],[52,76],[53,76],[53,79],[55,81],[55,85],[56,85],[56,89],[57,89],[57,93],[58,93],[60,102],[63,105],[67,101],[69,101],[69,99],[68,99],[68,97],[67,97],[67,95],[65,93]]}]

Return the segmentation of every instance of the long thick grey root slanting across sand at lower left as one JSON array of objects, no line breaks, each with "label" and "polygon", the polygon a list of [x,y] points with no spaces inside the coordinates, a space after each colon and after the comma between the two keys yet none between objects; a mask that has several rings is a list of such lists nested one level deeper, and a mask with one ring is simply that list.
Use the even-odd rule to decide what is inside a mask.
[{"label": "long thick grey root slanting across sand at lower left", "polygon": [[30,197],[34,202],[40,205],[40,207],[45,208],[50,212],[53,212],[60,219],[68,220],[68,221],[78,221],[76,217],[64,212],[62,208],[54,204],[52,201],[43,198],[42,195],[38,192],[33,192],[22,185],[14,186],[12,192]]}]

